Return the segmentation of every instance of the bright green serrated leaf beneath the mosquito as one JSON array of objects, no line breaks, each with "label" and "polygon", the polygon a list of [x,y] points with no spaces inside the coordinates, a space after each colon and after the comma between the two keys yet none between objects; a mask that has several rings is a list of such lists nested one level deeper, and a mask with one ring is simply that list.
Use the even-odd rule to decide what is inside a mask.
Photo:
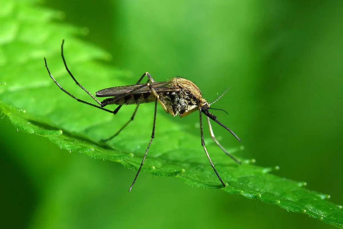
[{"label": "bright green serrated leaf beneath the mosquito", "polygon": [[[47,58],[52,75],[62,87],[90,102],[92,99],[75,85],[64,69],[60,57],[63,38],[66,39],[64,48],[69,68],[88,91],[133,84],[139,76],[96,62],[95,59],[109,59],[109,55],[73,38],[81,33],[80,30],[52,23],[57,17],[58,13],[46,9],[29,5],[22,7],[11,1],[2,4],[1,110],[19,130],[47,137],[61,149],[116,161],[137,170],[150,140],[153,104],[140,106],[135,120],[118,137],[102,144],[101,139],[113,135],[128,121],[134,106],[122,107],[114,116],[78,103],[59,90],[50,79],[43,57]],[[159,107],[156,138],[142,170],[154,175],[175,176],[197,187],[222,188],[200,145],[199,117],[197,113],[193,116],[173,120]],[[213,144],[208,131],[205,134],[205,143],[216,169],[228,184],[222,188],[224,191],[258,198],[287,211],[305,213],[328,224],[343,226],[342,206],[327,201],[328,195],[306,190],[304,182],[294,182],[269,173],[277,167],[250,165],[252,160],[242,160],[243,164],[238,165]],[[227,134],[224,137],[232,136]],[[228,151],[234,153],[238,150]]]}]

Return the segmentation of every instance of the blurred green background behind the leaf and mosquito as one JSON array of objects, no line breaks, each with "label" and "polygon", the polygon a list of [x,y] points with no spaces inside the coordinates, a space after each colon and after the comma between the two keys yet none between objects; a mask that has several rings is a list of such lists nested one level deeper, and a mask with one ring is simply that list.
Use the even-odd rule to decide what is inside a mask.
[{"label": "blurred green background behind the leaf and mosquito", "polygon": [[[59,23],[88,28],[80,39],[111,53],[106,65],[137,77],[149,71],[158,81],[188,78],[210,101],[230,87],[218,108],[228,111],[220,120],[242,139],[239,155],[278,165],[278,176],[305,181],[343,204],[342,1],[48,0],[41,6],[63,11]],[[332,228],[145,172],[129,194],[135,171],[61,151],[46,138],[17,132],[7,117],[0,129],[1,222],[11,228]],[[229,138],[224,146],[240,145],[215,131]]]}]

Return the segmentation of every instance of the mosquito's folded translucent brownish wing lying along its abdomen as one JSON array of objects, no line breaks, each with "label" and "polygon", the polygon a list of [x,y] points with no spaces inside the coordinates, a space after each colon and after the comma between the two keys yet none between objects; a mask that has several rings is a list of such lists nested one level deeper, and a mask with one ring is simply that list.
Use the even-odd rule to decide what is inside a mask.
[{"label": "mosquito's folded translucent brownish wing lying along its abdomen", "polygon": [[[150,85],[155,89],[156,92],[162,91],[175,91],[179,90],[175,88],[169,81],[165,82],[153,82]],[[113,88],[106,88],[100,91],[95,92],[97,97],[121,97],[130,94],[142,94],[151,92],[150,88],[147,87],[145,83],[142,84],[134,84],[134,85],[126,85],[126,86],[119,86]]]}]

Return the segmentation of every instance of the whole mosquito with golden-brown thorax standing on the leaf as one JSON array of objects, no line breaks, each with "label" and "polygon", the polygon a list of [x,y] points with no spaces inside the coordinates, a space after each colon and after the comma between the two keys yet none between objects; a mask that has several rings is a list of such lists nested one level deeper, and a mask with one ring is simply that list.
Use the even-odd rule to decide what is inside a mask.
[{"label": "whole mosquito with golden-brown thorax standing on the leaf", "polygon": [[[46,58],[44,57],[44,61],[45,61],[45,67],[48,70],[49,76],[50,78],[56,83],[56,85],[66,94],[68,94],[69,96],[71,96],[72,98],[74,98],[75,100],[81,102],[81,103],[85,103],[87,105],[91,105],[94,107],[97,107],[103,111],[107,111],[109,113],[113,113],[113,114],[117,114],[118,111],[120,110],[120,108],[122,107],[122,105],[126,104],[126,105],[131,105],[131,104],[136,104],[136,108],[131,116],[131,118],[129,119],[129,121],[127,123],[125,123],[125,125],[123,125],[116,134],[114,134],[113,136],[104,139],[103,141],[109,141],[111,139],[113,139],[114,137],[116,137],[131,121],[133,121],[138,107],[141,103],[150,103],[150,102],[155,102],[155,112],[154,112],[154,122],[153,122],[153,128],[152,128],[152,134],[151,134],[151,139],[149,142],[149,145],[147,146],[146,150],[145,150],[145,154],[142,160],[142,163],[137,171],[137,174],[132,182],[132,185],[129,189],[129,192],[131,192],[131,189],[134,185],[134,183],[136,182],[139,172],[142,169],[142,166],[144,164],[145,158],[146,158],[146,154],[149,151],[150,145],[153,141],[153,139],[155,138],[155,126],[156,126],[156,113],[157,113],[157,104],[159,103],[163,110],[167,113],[167,114],[171,114],[172,116],[176,116],[179,115],[180,117],[185,117],[191,113],[193,113],[194,111],[199,111],[200,114],[200,135],[201,135],[201,145],[204,148],[204,151],[206,153],[207,158],[210,161],[210,164],[215,172],[215,174],[217,175],[218,179],[220,180],[220,182],[223,184],[224,187],[226,187],[225,183],[223,182],[223,180],[221,179],[220,175],[218,174],[217,170],[215,169],[212,160],[210,158],[210,155],[205,147],[205,141],[204,141],[204,134],[203,134],[203,127],[202,127],[202,114],[206,115],[207,118],[207,123],[209,125],[210,128],[210,134],[211,134],[211,138],[213,139],[213,141],[222,149],[222,151],[227,154],[230,158],[232,158],[234,161],[236,161],[237,163],[241,163],[240,161],[238,161],[236,158],[234,158],[230,153],[228,153],[224,147],[216,140],[214,134],[213,134],[213,130],[212,130],[212,126],[210,123],[210,119],[212,119],[214,122],[216,122],[217,124],[221,125],[222,127],[224,127],[226,130],[228,130],[233,136],[235,136],[235,138],[240,141],[240,139],[237,137],[237,135],[230,130],[229,128],[227,128],[224,124],[222,124],[221,122],[218,121],[217,116],[213,115],[212,113],[210,113],[210,109],[213,110],[221,110],[221,109],[215,109],[215,108],[211,108],[210,105],[212,105],[213,103],[217,102],[225,93],[226,90],[222,95],[219,96],[219,98],[217,98],[214,102],[209,103],[208,101],[206,101],[205,99],[202,98],[202,93],[200,91],[200,89],[198,88],[198,86],[196,84],[194,84],[192,81],[184,79],[184,78],[180,78],[180,77],[175,77],[169,81],[165,81],[165,82],[156,82],[151,75],[149,74],[149,72],[145,72],[141,78],[137,81],[136,84],[134,85],[126,85],[126,86],[119,86],[119,87],[112,87],[112,88],[106,88],[100,91],[95,92],[95,96],[96,97],[109,97],[107,99],[104,99],[102,102],[100,102],[99,100],[97,100],[90,92],[88,92],[73,76],[73,74],[71,73],[71,71],[69,70],[67,63],[66,63],[66,59],[64,58],[63,55],[63,44],[64,44],[64,40],[62,41],[62,45],[61,45],[61,56],[62,56],[62,60],[64,63],[64,66],[66,67],[67,72],[69,73],[70,77],[75,81],[75,83],[82,89],[84,90],[88,95],[90,95],[92,97],[92,99],[98,104],[92,104],[89,102],[86,102],[84,100],[78,99],[76,98],[74,95],[72,95],[71,93],[69,93],[68,91],[66,91],[65,89],[63,89],[60,84],[55,80],[54,77],[52,77],[50,70],[48,68],[47,65],[47,61]],[[147,82],[146,83],[141,83],[141,81],[147,77]],[[114,111],[112,110],[108,110],[107,108],[104,108],[107,105],[111,105],[111,104],[115,104],[115,105],[119,105]]]}]

